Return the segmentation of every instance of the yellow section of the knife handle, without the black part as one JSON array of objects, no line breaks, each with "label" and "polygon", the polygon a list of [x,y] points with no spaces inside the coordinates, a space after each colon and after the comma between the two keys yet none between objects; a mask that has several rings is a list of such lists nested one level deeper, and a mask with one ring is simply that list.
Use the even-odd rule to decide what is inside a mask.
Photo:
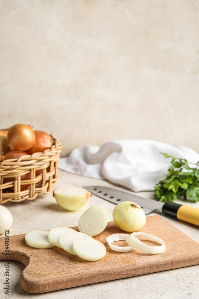
[{"label": "yellow section of the knife handle, without the black part", "polygon": [[199,226],[199,209],[182,205],[176,214],[179,220]]}]

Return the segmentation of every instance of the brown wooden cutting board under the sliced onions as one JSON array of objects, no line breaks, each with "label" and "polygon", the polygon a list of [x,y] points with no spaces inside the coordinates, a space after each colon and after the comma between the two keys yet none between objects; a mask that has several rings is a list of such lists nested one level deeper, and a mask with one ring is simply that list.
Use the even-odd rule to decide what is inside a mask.
[{"label": "brown wooden cutting board under the sliced onions", "polygon": [[[77,227],[74,229],[78,230]],[[126,253],[112,251],[106,237],[123,231],[114,222],[108,222],[106,229],[94,237],[107,248],[107,254],[101,260],[86,261],[58,247],[32,248],[26,244],[25,234],[9,237],[9,260],[26,266],[21,272],[20,284],[29,293],[49,292],[199,264],[199,244],[162,217],[147,216],[146,224],[140,231],[163,239],[166,251],[162,254],[148,254],[138,249]],[[158,245],[149,239],[143,241]],[[125,241],[116,243],[125,245]],[[0,238],[0,248],[0,260],[5,260],[4,238]]]}]

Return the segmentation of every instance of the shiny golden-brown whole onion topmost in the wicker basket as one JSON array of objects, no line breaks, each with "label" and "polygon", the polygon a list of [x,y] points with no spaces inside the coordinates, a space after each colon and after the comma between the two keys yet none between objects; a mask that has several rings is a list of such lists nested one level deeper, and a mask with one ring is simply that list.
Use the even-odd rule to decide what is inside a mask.
[{"label": "shiny golden-brown whole onion topmost in the wicker basket", "polygon": [[7,147],[11,150],[26,151],[35,143],[35,132],[32,126],[18,123],[12,126],[7,133]]}]

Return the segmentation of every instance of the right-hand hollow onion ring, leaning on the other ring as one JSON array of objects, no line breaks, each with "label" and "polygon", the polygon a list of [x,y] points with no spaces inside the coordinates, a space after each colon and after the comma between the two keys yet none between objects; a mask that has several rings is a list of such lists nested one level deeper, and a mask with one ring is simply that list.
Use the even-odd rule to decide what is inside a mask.
[{"label": "right-hand hollow onion ring, leaning on the other ring", "polygon": [[[149,239],[153,239],[155,241],[160,242],[162,245],[161,246],[149,246],[146,245],[145,243],[141,242],[139,239],[137,239],[136,237],[144,237],[144,238],[149,238]],[[158,253],[163,253],[166,250],[166,246],[165,243],[162,239],[150,235],[150,234],[146,234],[146,233],[132,233],[129,237],[127,237],[126,239],[127,244],[129,244],[132,247],[135,247],[141,251],[147,252],[147,253],[152,253],[152,254],[158,254]]]}]

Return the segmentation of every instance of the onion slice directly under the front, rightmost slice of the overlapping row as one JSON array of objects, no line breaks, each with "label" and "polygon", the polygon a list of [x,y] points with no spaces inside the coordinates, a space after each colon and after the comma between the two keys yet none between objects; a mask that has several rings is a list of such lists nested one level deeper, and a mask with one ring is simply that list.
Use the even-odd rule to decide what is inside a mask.
[{"label": "onion slice directly under the front, rightmost slice of the overlapping row", "polygon": [[73,248],[72,248],[72,243],[76,239],[80,239],[80,238],[90,238],[90,239],[92,239],[91,236],[74,230],[74,231],[68,231],[68,232],[64,233],[63,235],[61,235],[61,237],[59,239],[59,244],[67,252],[69,252],[71,254],[74,254],[74,255],[77,255],[75,253],[75,251],[73,250]]}]

